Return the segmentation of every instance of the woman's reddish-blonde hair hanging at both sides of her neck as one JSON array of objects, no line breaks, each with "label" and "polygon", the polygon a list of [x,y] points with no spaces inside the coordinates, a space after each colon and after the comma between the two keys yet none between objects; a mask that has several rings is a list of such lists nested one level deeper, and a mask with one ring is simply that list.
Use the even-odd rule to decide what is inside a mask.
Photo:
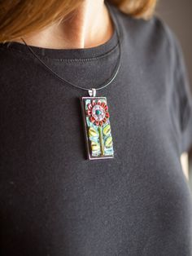
[{"label": "woman's reddish-blonde hair hanging at both sides of her neck", "polygon": [[[11,42],[55,23],[84,0],[2,0],[0,2],[0,42]],[[148,19],[156,0],[107,0],[135,18]]]}]

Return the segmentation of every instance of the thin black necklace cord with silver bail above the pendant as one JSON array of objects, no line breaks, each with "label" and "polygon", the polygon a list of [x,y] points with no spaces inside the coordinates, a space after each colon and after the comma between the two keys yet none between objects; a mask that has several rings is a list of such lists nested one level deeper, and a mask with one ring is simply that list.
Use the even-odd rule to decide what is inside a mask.
[{"label": "thin black necklace cord with silver bail above the pendant", "polygon": [[[106,2],[107,3],[107,2]],[[107,6],[108,8],[110,9],[111,7],[109,6],[109,4],[107,3]],[[112,10],[111,10],[112,12]],[[117,42],[117,45],[120,46],[120,32],[119,32],[119,27],[117,25],[117,22],[116,22],[116,19],[115,19],[115,15],[113,15],[113,21],[114,23],[116,24],[116,33],[117,33],[117,37],[118,37],[118,42]],[[82,86],[76,86],[74,85],[72,82],[68,82],[67,80],[63,79],[63,77],[60,77],[59,74],[55,73],[54,70],[52,70],[46,63],[44,63],[40,58],[39,56],[32,50],[32,48],[30,46],[28,46],[28,44],[24,41],[23,38],[21,38],[21,40],[24,42],[24,44],[28,47],[28,50],[32,52],[32,54],[37,58],[37,60],[39,60],[41,62],[41,64],[43,64],[44,66],[46,66],[46,68],[48,68],[50,70],[51,73],[54,73],[56,77],[59,78],[59,80],[61,80],[62,82],[67,82],[68,84],[70,84],[71,86],[74,86],[78,89],[82,89],[82,90],[88,90],[89,91],[89,95],[96,95],[96,90],[101,90],[105,87],[107,87],[108,85],[111,84],[111,82],[116,78],[116,75],[117,73],[119,72],[119,69],[120,69],[120,59],[121,59],[121,46],[119,47],[120,48],[120,54],[119,54],[119,58],[118,58],[118,63],[116,64],[116,68],[115,68],[115,71],[113,73],[113,75],[111,76],[111,78],[108,78],[106,82],[104,82],[104,85],[103,86],[100,86],[98,88],[92,88],[92,89],[89,89],[89,88],[85,88],[85,87],[82,87]]]}]

